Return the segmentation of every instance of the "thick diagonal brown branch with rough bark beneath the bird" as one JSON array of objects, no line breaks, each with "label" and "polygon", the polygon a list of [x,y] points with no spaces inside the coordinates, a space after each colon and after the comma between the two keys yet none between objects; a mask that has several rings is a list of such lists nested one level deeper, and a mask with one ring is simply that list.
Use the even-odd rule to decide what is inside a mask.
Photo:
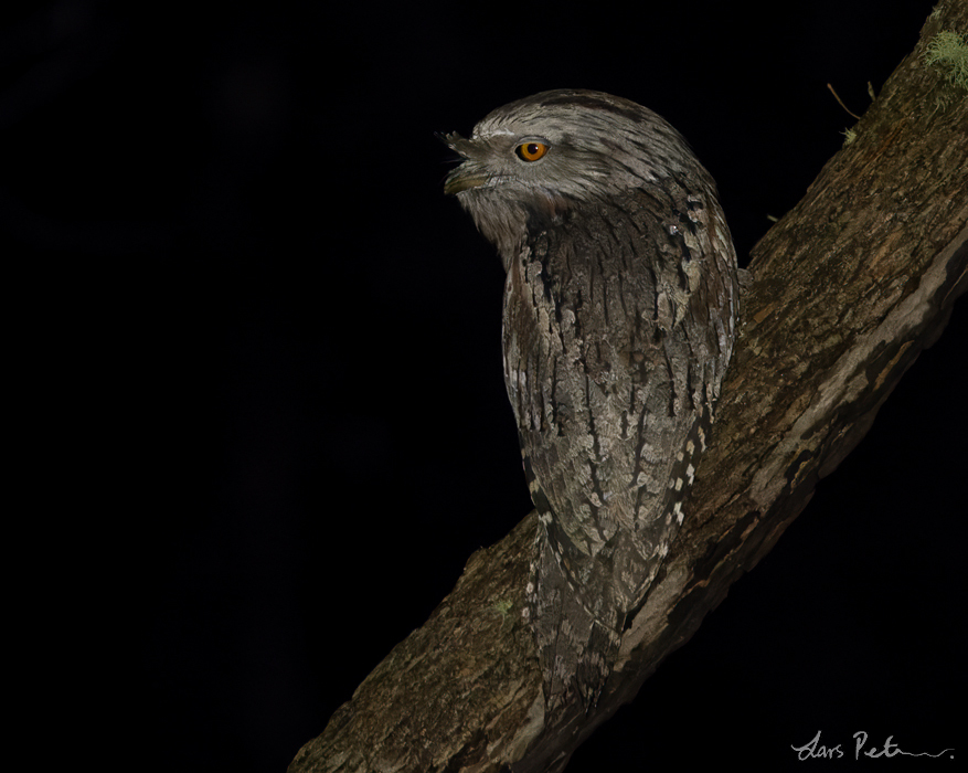
[{"label": "thick diagonal brown branch with rough bark beneath the bird", "polygon": [[770,550],[968,286],[968,93],[924,60],[939,31],[966,29],[964,1],[932,14],[855,139],[754,248],[744,327],[685,523],[597,706],[545,713],[521,620],[532,513],[470,557],[450,595],[291,773],[561,771]]}]

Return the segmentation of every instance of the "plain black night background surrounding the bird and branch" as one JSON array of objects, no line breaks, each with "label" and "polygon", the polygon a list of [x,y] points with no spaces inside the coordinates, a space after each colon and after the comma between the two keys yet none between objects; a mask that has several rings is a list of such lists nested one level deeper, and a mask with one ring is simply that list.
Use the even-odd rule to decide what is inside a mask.
[{"label": "plain black night background surrounding the bird and branch", "polygon": [[[863,112],[930,9],[4,8],[11,595],[39,758],[284,770],[530,510],[502,273],[434,131],[552,87],[640,102],[716,178],[744,260],[854,123],[826,84]],[[844,767],[857,731],[964,745],[966,333],[962,300],[570,772]],[[818,730],[844,756],[797,763]]]}]

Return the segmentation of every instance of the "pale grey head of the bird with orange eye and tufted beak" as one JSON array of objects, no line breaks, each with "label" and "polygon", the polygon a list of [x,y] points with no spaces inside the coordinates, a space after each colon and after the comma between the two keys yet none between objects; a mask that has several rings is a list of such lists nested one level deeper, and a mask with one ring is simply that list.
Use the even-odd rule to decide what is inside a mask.
[{"label": "pale grey head of the bird with orange eye and tufted beak", "polygon": [[529,225],[699,166],[679,133],[651,110],[584,89],[512,102],[469,138],[440,139],[460,157],[445,193],[457,195],[506,265]]}]

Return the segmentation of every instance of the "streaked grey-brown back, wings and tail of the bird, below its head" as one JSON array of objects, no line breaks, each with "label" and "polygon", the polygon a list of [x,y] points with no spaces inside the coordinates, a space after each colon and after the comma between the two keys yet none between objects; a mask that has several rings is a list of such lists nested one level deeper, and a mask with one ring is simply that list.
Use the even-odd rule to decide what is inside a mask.
[{"label": "streaked grey-brown back, wings and tail of the bird, below its head", "polygon": [[705,186],[570,209],[532,229],[508,273],[504,374],[542,517],[540,649],[562,680],[585,673],[589,695],[598,666],[583,657],[599,659],[596,637],[617,645],[659,571],[728,361],[734,258]]}]

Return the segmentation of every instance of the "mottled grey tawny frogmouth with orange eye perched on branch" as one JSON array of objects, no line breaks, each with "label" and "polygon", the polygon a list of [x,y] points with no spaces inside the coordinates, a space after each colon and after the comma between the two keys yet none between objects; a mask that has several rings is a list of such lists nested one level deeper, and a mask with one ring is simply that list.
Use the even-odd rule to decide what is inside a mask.
[{"label": "mottled grey tawny frogmouth with orange eye perched on branch", "polygon": [[504,383],[538,531],[522,616],[550,708],[600,698],[682,526],[738,327],[715,182],[629,99],[553,89],[470,137],[444,191],[506,272]]}]

